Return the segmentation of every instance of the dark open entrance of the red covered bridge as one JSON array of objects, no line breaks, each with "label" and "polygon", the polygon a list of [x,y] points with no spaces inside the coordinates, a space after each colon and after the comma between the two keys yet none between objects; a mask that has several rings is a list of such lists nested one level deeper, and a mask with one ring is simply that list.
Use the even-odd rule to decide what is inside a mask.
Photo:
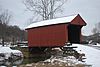
[{"label": "dark open entrance of the red covered bridge", "polygon": [[79,25],[70,24],[68,26],[68,41],[70,43],[80,43],[81,28],[82,26]]}]

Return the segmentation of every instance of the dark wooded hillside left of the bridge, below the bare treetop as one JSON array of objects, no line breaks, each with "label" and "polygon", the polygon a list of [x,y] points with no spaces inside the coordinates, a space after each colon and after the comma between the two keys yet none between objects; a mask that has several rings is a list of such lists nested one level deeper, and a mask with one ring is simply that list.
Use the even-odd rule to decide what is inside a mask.
[{"label": "dark wooded hillside left of the bridge, below the bare treetop", "polygon": [[25,41],[26,31],[21,30],[18,26],[11,26],[0,23],[0,41],[4,45],[4,42],[12,42],[15,44],[17,41]]}]

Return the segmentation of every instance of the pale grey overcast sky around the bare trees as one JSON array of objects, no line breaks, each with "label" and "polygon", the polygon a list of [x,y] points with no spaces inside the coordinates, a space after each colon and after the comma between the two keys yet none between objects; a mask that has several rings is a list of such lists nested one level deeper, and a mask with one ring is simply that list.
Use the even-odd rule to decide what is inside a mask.
[{"label": "pale grey overcast sky around the bare trees", "polygon": [[[23,0],[0,0],[0,7],[8,9],[13,14],[13,19],[10,24],[18,25],[24,29],[27,21],[31,18],[30,11],[25,10],[22,3]],[[83,27],[82,33],[90,35],[94,25],[100,22],[100,0],[68,0],[63,6],[62,14],[58,17],[63,17],[72,14],[80,14],[87,22],[87,26]]]}]

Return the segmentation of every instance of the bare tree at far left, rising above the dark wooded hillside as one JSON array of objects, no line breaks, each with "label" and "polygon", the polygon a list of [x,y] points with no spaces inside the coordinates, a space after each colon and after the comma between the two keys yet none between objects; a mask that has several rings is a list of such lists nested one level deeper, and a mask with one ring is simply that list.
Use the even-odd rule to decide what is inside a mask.
[{"label": "bare tree at far left, rising above the dark wooded hillside", "polygon": [[6,35],[6,27],[11,20],[12,15],[8,10],[4,10],[0,13],[0,34],[2,39],[2,45],[4,46],[4,39]]}]

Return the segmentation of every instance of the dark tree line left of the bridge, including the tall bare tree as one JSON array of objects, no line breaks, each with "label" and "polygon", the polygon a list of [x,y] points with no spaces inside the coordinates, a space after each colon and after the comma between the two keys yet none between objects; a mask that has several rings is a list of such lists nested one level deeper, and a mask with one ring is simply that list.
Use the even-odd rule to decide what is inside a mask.
[{"label": "dark tree line left of the bridge, including the tall bare tree", "polygon": [[9,25],[12,15],[8,10],[0,12],[0,43],[4,46],[5,42],[15,43],[16,41],[26,40],[26,31],[18,26]]}]

